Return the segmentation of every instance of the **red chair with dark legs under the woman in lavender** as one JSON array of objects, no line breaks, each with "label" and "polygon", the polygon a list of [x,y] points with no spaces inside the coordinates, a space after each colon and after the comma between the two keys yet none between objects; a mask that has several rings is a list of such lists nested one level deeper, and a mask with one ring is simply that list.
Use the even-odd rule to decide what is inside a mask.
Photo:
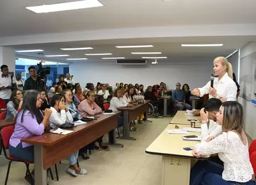
[{"label": "red chair with dark legs under the woman in lavender", "polygon": [[[26,165],[26,176],[29,175],[29,179],[31,180],[32,184],[33,183],[33,176],[31,175],[30,171],[29,171],[29,165],[30,164],[33,164],[33,162],[31,161],[24,161],[22,159],[16,159],[16,158],[13,158],[13,156],[9,155],[6,153],[6,149],[8,149],[9,147],[9,141],[10,141],[10,138],[13,134],[13,131],[14,131],[14,125],[12,126],[6,126],[4,127],[1,132],[0,132],[0,136],[1,136],[1,144],[2,144],[2,147],[3,147],[3,151],[4,151],[4,156],[6,159],[9,160],[9,165],[8,165],[8,170],[7,170],[7,174],[6,174],[6,179],[5,179],[5,182],[4,182],[4,185],[7,185],[7,181],[8,181],[8,177],[9,177],[9,173],[10,173],[10,167],[11,167],[11,164],[13,161],[15,162],[22,162]],[[50,172],[51,174],[51,177],[52,177],[52,180],[53,180],[53,175],[52,175],[52,172],[51,172],[51,168],[47,169],[47,172]]]}]

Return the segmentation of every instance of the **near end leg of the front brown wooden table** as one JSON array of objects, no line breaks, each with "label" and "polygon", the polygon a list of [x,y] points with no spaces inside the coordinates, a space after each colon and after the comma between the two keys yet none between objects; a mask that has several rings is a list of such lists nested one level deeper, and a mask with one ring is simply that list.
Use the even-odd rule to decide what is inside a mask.
[{"label": "near end leg of the front brown wooden table", "polygon": [[43,162],[43,146],[34,145],[35,154],[35,185],[47,185],[46,170]]}]

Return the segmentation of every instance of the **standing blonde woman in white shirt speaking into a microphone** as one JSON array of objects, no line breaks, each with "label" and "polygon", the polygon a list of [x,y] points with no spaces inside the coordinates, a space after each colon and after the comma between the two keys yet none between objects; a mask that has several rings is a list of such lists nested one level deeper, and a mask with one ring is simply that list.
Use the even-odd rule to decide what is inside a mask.
[{"label": "standing blonde woman in white shirt speaking into a microphone", "polygon": [[233,81],[232,65],[228,63],[225,57],[217,57],[213,61],[214,78],[213,87],[209,81],[202,88],[195,88],[192,94],[195,96],[204,96],[209,93],[209,98],[217,98],[222,102],[236,101],[237,87]]}]

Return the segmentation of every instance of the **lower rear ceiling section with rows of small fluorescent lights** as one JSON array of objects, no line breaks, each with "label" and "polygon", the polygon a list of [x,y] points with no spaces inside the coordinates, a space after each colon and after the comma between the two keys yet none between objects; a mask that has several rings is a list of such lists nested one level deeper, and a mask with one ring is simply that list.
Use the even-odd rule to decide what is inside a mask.
[{"label": "lower rear ceiling section with rows of small fluorescent lights", "polygon": [[[44,54],[24,53],[32,57],[43,57],[47,60],[67,61],[66,58],[86,57],[88,61],[104,61],[101,57],[125,57],[141,59],[142,56],[166,56],[170,61],[173,57],[217,57],[228,56],[246,45],[256,41],[256,36],[213,36],[213,37],[182,37],[182,38],[134,38],[120,40],[72,41],[64,43],[40,43],[33,45],[17,45],[17,50],[42,49]],[[181,47],[181,43],[223,43],[222,47]],[[116,45],[154,45],[153,48],[116,48]],[[93,50],[64,51],[65,47],[93,47]],[[157,55],[132,55],[131,52],[162,52]],[[85,56],[84,54],[112,53],[112,56]],[[22,53],[17,53],[22,55]],[[44,57],[44,55],[68,54],[70,57]],[[70,62],[70,61],[67,61]],[[74,61],[79,62],[79,61]]]}]

